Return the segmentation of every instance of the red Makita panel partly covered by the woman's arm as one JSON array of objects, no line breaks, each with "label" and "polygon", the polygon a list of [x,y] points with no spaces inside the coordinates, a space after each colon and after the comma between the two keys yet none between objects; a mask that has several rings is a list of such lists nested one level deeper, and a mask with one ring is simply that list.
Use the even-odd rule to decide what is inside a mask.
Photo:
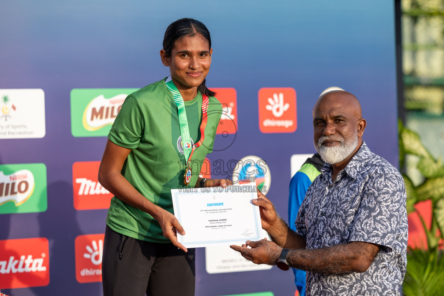
[{"label": "red Makita panel partly covered by the woman's arm", "polygon": [[114,195],[97,178],[100,162],[74,162],[72,187],[75,209],[108,209]]}]

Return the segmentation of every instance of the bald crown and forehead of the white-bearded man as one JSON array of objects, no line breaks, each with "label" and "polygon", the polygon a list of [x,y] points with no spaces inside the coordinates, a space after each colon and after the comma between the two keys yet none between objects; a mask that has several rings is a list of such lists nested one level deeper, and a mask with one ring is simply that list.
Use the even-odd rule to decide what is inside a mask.
[{"label": "bald crown and forehead of the white-bearded man", "polygon": [[317,108],[345,107],[347,110],[356,114],[357,119],[362,118],[361,104],[358,99],[348,91],[328,91],[319,96],[314,104],[313,119]]}]

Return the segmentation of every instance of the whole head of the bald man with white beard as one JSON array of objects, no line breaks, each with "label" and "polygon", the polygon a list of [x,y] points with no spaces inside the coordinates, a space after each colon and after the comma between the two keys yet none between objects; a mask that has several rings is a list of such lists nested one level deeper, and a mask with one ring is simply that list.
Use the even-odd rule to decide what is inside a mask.
[{"label": "whole head of the bald man with white beard", "polygon": [[325,162],[349,161],[362,144],[366,124],[354,95],[347,91],[326,92],[313,108],[314,146]]}]

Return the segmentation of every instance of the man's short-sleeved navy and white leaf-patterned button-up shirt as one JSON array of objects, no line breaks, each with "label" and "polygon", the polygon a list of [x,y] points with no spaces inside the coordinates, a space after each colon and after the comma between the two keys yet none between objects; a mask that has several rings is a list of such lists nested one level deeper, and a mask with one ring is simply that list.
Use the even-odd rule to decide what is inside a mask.
[{"label": "man's short-sleeved navy and white leaf-patterned button-up shirt", "polygon": [[326,163],[297,214],[296,232],[307,241],[307,249],[351,241],[382,248],[366,272],[307,272],[307,295],[400,295],[408,236],[402,176],[365,143],[334,182],[331,174],[332,166]]}]

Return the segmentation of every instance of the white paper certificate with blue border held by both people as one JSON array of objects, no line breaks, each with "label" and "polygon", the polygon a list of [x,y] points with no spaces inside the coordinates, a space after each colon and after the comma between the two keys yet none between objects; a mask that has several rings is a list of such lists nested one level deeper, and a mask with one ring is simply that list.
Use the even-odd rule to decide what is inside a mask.
[{"label": "white paper certificate with blue border held by both people", "polygon": [[255,183],[171,189],[174,216],[185,230],[177,240],[186,248],[240,245],[261,239]]}]

